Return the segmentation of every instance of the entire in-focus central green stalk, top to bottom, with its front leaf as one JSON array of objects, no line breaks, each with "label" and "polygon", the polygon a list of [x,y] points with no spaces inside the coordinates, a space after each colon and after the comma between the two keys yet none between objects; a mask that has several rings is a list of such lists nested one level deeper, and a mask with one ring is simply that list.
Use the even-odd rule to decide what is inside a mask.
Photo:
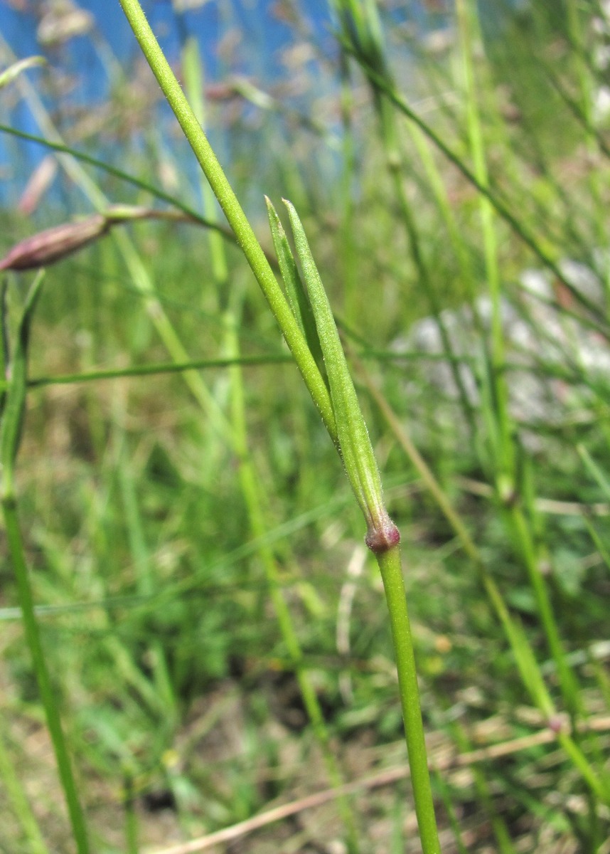
[{"label": "entire in-focus central green stalk, top to bottom, with its front leaf", "polygon": [[[170,102],[170,105],[177,116],[177,120],[183,128],[183,132],[188,138],[189,143],[200,162],[200,166],[203,168],[204,173],[206,173],[206,177],[212,185],[212,189],[214,190],[221,207],[224,209],[227,219],[229,219],[229,224],[235,231],[238,242],[247,257],[251,269],[259,281],[261,289],[264,291],[264,295],[270,302],[271,310],[276,316],[276,320],[284,332],[288,346],[293,352],[294,358],[299,366],[299,371],[305,380],[305,384],[307,385],[313,400],[317,404],[317,407],[320,409],[322,419],[328,433],[333,439],[335,445],[340,447],[341,453],[346,462],[346,471],[350,477],[352,488],[354,489],[359,503],[363,507],[364,516],[368,520],[369,533],[367,535],[367,542],[369,543],[369,547],[371,547],[378,556],[383,576],[385,576],[384,583],[386,590],[388,591],[388,607],[392,611],[392,637],[396,644],[405,643],[410,645],[411,638],[406,613],[406,601],[404,599],[404,584],[402,581],[402,570],[400,568],[400,556],[398,546],[391,546],[392,543],[396,544],[398,542],[398,530],[387,516],[381,501],[381,484],[378,483],[379,472],[376,470],[376,465],[374,463],[372,447],[370,447],[366,427],[363,424],[362,414],[359,412],[357,407],[357,401],[355,401],[355,392],[353,391],[351,378],[346,377],[344,368],[341,365],[341,359],[345,361],[345,357],[342,356],[342,351],[338,354],[334,346],[334,338],[336,336],[338,341],[338,336],[336,328],[334,327],[332,313],[329,313],[328,307],[324,307],[322,305],[322,303],[328,302],[328,300],[323,293],[323,289],[317,291],[317,299],[321,300],[321,302],[319,302],[319,307],[325,313],[322,321],[324,329],[322,330],[321,327],[318,327],[322,349],[324,348],[324,342],[322,339],[325,336],[325,332],[328,331],[330,334],[328,343],[331,344],[333,354],[337,352],[338,360],[334,367],[340,371],[340,373],[335,377],[337,383],[335,392],[338,396],[336,401],[334,400],[332,403],[330,401],[330,395],[328,395],[328,389],[317,369],[315,360],[313,359],[311,351],[305,341],[305,337],[299,329],[299,324],[294,318],[282,291],[278,288],[276,279],[270,270],[270,266],[264,257],[262,249],[260,249],[259,243],[253,234],[253,230],[247,222],[245,214],[241,210],[241,206],[239,205],[239,202],[237,202],[235,194],[230,188],[222,168],[218,163],[218,159],[207,142],[205,134],[202,132],[192,110],[189,108],[189,104],[183,96],[183,92],[180,90],[180,86],[178,85],[176,78],[171,73],[171,69],[166,62],[165,56],[163,56],[163,53],[160,50],[159,44],[157,44],[156,39],[154,38],[153,32],[148,26],[148,22],[142,13],[139,3],[137,3],[137,0],[120,0],[120,3],[125,11],[127,19],[130,21],[137,40],[142,47],[142,51],[147,57],[148,62],[160,83],[161,89],[164,91],[168,102]],[[309,272],[312,275],[315,273],[317,276],[315,265],[311,260],[311,254],[309,254],[309,248],[306,244],[305,234],[302,231],[302,226],[300,226],[296,212],[290,206],[289,212],[291,215],[291,223],[293,225],[295,239],[297,239],[298,235],[301,237],[301,250],[299,251],[301,261],[302,263],[305,263],[305,266],[309,267]],[[306,253],[305,248],[307,250]],[[307,257],[305,257],[305,254],[307,254]],[[307,278],[307,273],[305,273],[305,277]],[[308,285],[309,284],[310,283],[308,282]],[[327,368],[329,369],[328,354],[325,354],[325,358],[327,359]],[[330,373],[329,380],[330,388],[333,389],[334,379],[333,375]],[[340,407],[340,412],[338,412],[337,420],[335,420],[334,410],[337,407]],[[346,412],[350,413],[349,422],[351,427],[348,426],[348,424],[342,424],[341,421],[345,408]],[[356,417],[355,421],[352,421],[353,417]],[[343,429],[346,431],[341,441],[338,428],[339,430]],[[352,431],[352,428],[355,432]],[[353,445],[352,442],[354,442]],[[357,452],[358,445],[360,447],[360,453]],[[352,456],[352,452],[356,453]],[[363,454],[363,456],[361,454]],[[369,468],[369,461],[373,464],[372,468]],[[362,468],[363,465],[365,466],[364,468]],[[368,511],[369,498],[372,502],[370,504],[370,514]],[[373,524],[372,527],[371,523]],[[406,628],[404,625],[405,619],[407,620]],[[413,766],[415,769],[414,777],[416,778],[416,781],[414,782],[414,790],[416,792],[416,797],[418,798],[416,810],[418,818],[421,821],[421,842],[426,854],[438,854],[440,847],[438,833],[436,830],[436,820],[434,817],[432,791],[427,770],[426,746],[423,738],[419,693],[417,690],[417,679],[414,670],[415,662],[413,659],[412,646],[410,646],[410,649],[406,650],[398,649],[397,647],[396,652],[398,667],[402,670],[402,673],[399,676],[399,679],[402,680],[403,683],[403,687],[401,688],[401,701],[404,708],[407,740],[408,743],[410,742],[410,755],[413,755]]]}]

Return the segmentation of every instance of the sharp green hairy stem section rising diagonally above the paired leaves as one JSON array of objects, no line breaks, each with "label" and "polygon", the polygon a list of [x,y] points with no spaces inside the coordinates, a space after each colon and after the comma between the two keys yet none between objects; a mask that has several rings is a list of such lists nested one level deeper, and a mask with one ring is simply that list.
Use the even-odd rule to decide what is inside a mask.
[{"label": "sharp green hairy stem section rising diagonally above the paired leaves", "polygon": [[183,129],[184,136],[189,141],[191,148],[206,175],[207,180],[217,197],[220,207],[223,208],[229,225],[235,232],[237,243],[239,243],[247,262],[259,283],[271,312],[282,329],[288,348],[293,354],[294,360],[303,376],[305,385],[318,407],[322,421],[328,430],[328,434],[337,442],[337,428],[334,420],[333,407],[331,406],[328,389],[324,384],[322,375],[317,368],[311,352],[305,341],[299,325],[293,317],[288,306],[288,301],[282,294],[282,289],[277,284],[274,272],[271,270],[269,261],[265,257],[263,249],[254,234],[253,228],[247,220],[246,214],[241,209],[237,196],[227,180],[223,168],[214,154],[212,146],[207,141],[206,134],[202,131],[189,102],[180,88],[176,76],[160,49],[160,45],[154,38],[154,33],[148,25],[148,20],[142,12],[142,7],[137,0],[119,0],[125,17],[130,23],[131,29],[146,56],[149,66],[154,73],[161,90],[167,98],[178,123]]}]

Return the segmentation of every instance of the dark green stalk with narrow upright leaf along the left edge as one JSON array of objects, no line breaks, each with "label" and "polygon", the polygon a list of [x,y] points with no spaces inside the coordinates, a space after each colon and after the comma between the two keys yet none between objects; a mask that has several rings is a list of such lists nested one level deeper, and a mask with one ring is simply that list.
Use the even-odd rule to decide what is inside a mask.
[{"label": "dark green stalk with narrow upright leaf along the left edge", "polygon": [[0,484],[0,488],[2,492],[4,528],[9,547],[9,557],[15,572],[23,628],[27,646],[32,656],[32,667],[36,676],[38,692],[40,693],[44,715],[55,752],[61,787],[66,798],[73,839],[77,846],[78,854],[88,854],[89,842],[87,839],[84,813],[78,798],[78,788],[73,775],[67,741],[61,726],[59,706],[55,697],[55,690],[51,683],[49,668],[44,654],[44,645],[34,611],[32,584],[26,563],[26,549],[21,535],[15,491],[15,458],[19,447],[22,420],[26,406],[29,326],[32,321],[32,313],[40,292],[42,280],[43,273],[40,272],[27,295],[26,305],[23,309],[17,332],[17,341],[15,342],[10,362],[11,375],[4,401],[2,425],[0,427],[0,463],[2,464],[2,483]]}]

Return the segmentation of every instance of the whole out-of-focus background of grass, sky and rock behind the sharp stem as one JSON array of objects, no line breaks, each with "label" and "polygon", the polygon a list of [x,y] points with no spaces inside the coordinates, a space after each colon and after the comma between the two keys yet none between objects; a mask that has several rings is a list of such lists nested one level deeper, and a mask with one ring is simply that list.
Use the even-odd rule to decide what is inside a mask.
[{"label": "whole out-of-focus background of grass, sky and rock behind the sharp stem", "polygon": [[[298,208],[353,357],[443,851],[610,851],[607,3],[142,5],[266,248],[264,194]],[[33,55],[0,90],[0,254],[110,204],[221,221],[118,0],[5,0],[0,67]],[[32,275],[3,275],[14,318]],[[84,376],[235,360],[233,330],[241,373]],[[287,354],[239,250],[200,225],[116,226],[46,272],[19,512],[95,851],[327,789],[299,671],[358,784],[359,850],[419,850],[381,582]],[[73,851],[2,531],[0,554],[0,848]],[[344,819],[329,796],[215,850],[340,854]]]}]

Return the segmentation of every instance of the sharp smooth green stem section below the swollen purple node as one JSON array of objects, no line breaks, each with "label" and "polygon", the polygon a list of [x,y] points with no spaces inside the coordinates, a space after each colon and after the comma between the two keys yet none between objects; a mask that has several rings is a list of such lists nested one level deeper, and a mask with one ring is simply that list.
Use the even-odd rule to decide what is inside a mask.
[{"label": "sharp smooth green stem section below the swollen purple node", "polygon": [[430,772],[427,767],[426,739],[421,721],[420,691],[415,669],[415,653],[404,592],[400,547],[394,546],[375,555],[386,593],[392,640],[398,670],[400,705],[403,710],[404,734],[409,751],[415,813],[424,854],[439,854],[439,833],[434,816]]}]

